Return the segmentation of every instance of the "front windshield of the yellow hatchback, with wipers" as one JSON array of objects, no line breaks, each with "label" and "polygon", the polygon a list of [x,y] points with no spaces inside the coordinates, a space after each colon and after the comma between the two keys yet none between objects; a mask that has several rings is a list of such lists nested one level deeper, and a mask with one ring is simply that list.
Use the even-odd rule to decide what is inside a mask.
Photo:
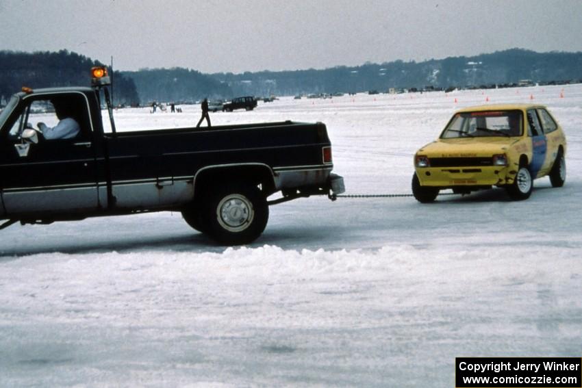
[{"label": "front windshield of the yellow hatchback, with wipers", "polygon": [[518,110],[463,112],[453,116],[440,138],[520,136],[522,127],[522,114]]}]

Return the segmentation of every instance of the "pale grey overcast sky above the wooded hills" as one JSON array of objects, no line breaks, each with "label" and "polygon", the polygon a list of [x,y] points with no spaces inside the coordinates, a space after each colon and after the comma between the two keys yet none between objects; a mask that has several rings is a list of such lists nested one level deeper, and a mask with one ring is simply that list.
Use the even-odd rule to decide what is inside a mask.
[{"label": "pale grey overcast sky above the wooded hills", "polygon": [[0,0],[0,50],[116,70],[357,66],[519,47],[582,51],[582,0]]}]

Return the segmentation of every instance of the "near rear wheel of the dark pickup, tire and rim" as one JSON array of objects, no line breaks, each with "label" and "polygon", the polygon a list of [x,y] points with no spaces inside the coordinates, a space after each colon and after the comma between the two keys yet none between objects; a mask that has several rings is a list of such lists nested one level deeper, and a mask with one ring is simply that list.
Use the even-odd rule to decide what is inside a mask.
[{"label": "near rear wheel of the dark pickup, tire and rim", "polygon": [[249,244],[265,230],[269,208],[257,186],[232,183],[209,193],[207,198],[205,233],[219,244]]}]

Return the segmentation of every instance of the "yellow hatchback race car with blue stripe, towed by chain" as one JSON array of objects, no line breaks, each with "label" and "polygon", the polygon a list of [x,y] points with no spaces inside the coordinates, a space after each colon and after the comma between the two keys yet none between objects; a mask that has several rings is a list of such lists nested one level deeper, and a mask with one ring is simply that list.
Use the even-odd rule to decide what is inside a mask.
[{"label": "yellow hatchback race car with blue stripe, towed by chain", "polygon": [[505,187],[515,200],[531,195],[533,179],[566,181],[566,136],[542,105],[486,105],[461,109],[440,137],[414,155],[412,193],[433,202],[442,189],[469,192]]}]

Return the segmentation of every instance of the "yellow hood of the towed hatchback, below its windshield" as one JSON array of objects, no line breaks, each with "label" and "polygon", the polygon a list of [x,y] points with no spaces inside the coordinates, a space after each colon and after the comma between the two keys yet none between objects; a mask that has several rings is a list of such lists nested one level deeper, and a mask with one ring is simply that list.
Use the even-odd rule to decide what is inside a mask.
[{"label": "yellow hood of the towed hatchback, below its windshield", "polygon": [[516,140],[507,138],[438,139],[418,150],[429,157],[489,157],[505,153]]}]

